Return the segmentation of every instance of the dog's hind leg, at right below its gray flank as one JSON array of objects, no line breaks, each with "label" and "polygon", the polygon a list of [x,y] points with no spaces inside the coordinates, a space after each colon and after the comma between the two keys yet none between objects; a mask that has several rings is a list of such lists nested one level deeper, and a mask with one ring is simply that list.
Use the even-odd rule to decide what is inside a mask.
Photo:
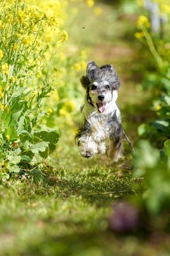
[{"label": "dog's hind leg, at right below its gray flank", "polygon": [[123,146],[121,142],[121,135],[116,137],[116,140],[111,140],[111,145],[109,148],[109,157],[113,159],[114,162],[122,157]]}]

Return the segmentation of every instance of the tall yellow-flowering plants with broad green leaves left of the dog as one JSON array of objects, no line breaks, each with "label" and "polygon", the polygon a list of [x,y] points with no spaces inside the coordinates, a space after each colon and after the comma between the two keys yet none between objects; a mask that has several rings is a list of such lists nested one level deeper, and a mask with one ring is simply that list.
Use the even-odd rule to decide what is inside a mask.
[{"label": "tall yellow-flowering plants with broad green leaves left of the dog", "polygon": [[[67,34],[60,29],[61,17],[43,11],[40,3],[0,3],[1,179],[20,170],[42,168],[43,159],[58,142],[58,133],[39,121],[42,100],[52,91],[52,59],[47,58],[65,42]],[[50,40],[50,33],[55,40]]]}]

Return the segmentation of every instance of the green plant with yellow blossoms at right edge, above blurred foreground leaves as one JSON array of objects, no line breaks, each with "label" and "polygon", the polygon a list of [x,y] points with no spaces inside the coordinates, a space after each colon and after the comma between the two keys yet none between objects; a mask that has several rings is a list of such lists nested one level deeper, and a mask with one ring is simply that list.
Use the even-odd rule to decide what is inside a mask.
[{"label": "green plant with yellow blossoms at right edge, above blurred foreground leaves", "polygon": [[[157,1],[156,1],[157,2]],[[155,144],[162,146],[162,143],[169,138],[170,124],[170,49],[169,49],[169,10],[170,5],[167,1],[158,1],[160,5],[160,15],[167,15],[167,24],[164,25],[164,40],[151,32],[148,17],[141,15],[137,20],[137,28],[140,32],[135,33],[144,47],[150,50],[153,58],[152,72],[146,72],[143,81],[144,90],[153,92],[153,111],[157,115],[157,120],[150,124],[142,124],[139,127],[139,135],[143,138],[150,138]]]}]

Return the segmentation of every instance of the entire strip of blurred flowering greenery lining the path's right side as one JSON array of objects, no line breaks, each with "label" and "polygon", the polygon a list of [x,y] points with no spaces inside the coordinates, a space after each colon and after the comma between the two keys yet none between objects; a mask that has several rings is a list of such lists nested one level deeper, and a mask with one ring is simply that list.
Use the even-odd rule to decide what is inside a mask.
[{"label": "entire strip of blurred flowering greenery lining the path's right side", "polygon": [[[167,18],[169,18],[170,2],[163,0],[155,2],[160,6],[160,14],[164,10]],[[139,135],[145,140],[139,141],[135,150],[134,165],[135,174],[137,176],[144,175],[145,177],[146,189],[141,202],[145,209],[150,214],[155,215],[156,218],[160,214],[166,214],[170,207],[169,20],[164,25],[165,33],[162,38],[159,35],[154,35],[151,31],[149,17],[140,16],[137,20],[137,28],[139,32],[135,33],[135,37],[143,43],[143,51],[150,51],[150,56],[153,59],[151,62],[152,71],[146,72],[143,88],[144,90],[150,89],[152,92],[152,109],[155,111],[157,118],[150,124],[141,124],[138,128]],[[166,220],[164,225],[168,225]]]}]

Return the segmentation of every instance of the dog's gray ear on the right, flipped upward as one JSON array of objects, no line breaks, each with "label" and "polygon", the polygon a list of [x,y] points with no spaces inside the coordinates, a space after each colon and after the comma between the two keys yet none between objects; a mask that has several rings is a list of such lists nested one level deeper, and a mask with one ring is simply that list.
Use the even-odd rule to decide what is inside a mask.
[{"label": "dog's gray ear on the right, flipped upward", "polygon": [[107,77],[107,79],[109,80],[109,83],[111,84],[112,89],[118,90],[118,88],[120,87],[120,81],[119,81],[119,77],[116,72],[116,69],[109,64],[105,64],[101,66],[100,69],[103,72],[105,72],[105,77]]}]

